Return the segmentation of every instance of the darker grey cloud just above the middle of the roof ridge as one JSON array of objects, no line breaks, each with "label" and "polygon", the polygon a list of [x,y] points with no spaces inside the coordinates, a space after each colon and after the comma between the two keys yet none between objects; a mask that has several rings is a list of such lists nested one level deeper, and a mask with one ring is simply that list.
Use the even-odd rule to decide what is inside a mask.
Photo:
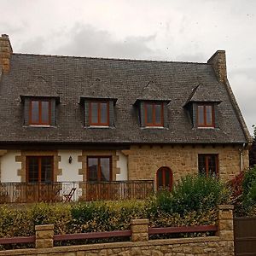
[{"label": "darker grey cloud just above the middle of the roof ridge", "polygon": [[[146,58],[154,51],[148,43],[154,41],[154,35],[148,37],[126,37],[119,40],[104,30],[93,26],[76,24],[61,37],[66,41],[55,47],[57,55],[84,55],[113,58]],[[60,40],[58,40],[60,42]]]}]

